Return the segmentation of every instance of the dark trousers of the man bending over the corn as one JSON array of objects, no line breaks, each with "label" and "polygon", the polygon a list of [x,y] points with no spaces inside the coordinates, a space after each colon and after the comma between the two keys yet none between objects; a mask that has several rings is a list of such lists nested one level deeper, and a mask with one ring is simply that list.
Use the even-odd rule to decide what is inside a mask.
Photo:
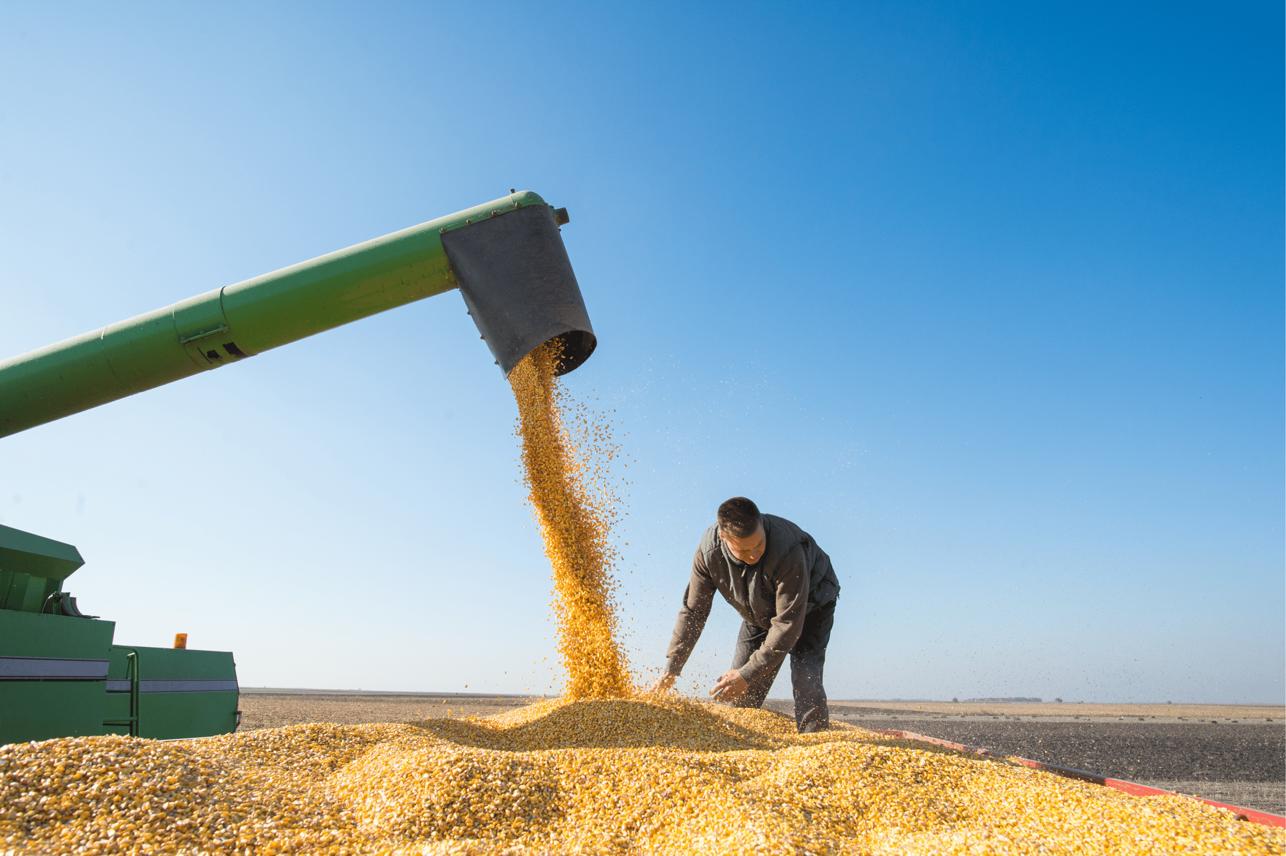
[{"label": "dark trousers of the man bending over the corn", "polygon": [[[831,641],[831,626],[835,623],[835,600],[818,607],[804,618],[804,632],[791,649],[791,688],[795,690],[795,727],[800,734],[824,731],[831,727],[831,713],[826,707],[826,689],[822,686],[822,667],[826,664],[826,645]],[[737,634],[737,650],[732,655],[732,667],[741,668],[750,655],[759,650],[768,635],[765,627],[741,622]],[[763,707],[768,690],[777,680],[777,668],[760,675],[750,682],[750,688],[733,700],[733,707]]]}]

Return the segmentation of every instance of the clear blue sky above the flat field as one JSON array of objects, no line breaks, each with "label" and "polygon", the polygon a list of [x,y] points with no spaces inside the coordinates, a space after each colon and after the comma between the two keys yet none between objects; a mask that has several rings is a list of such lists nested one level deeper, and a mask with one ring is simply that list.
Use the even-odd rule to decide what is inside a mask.
[{"label": "clear blue sky above the flat field", "polygon": [[[599,337],[662,663],[743,494],[832,698],[1283,700],[1282,10],[13,4],[0,351],[530,189]],[[117,640],[243,685],[548,691],[516,409],[459,294],[0,443]],[[685,673],[728,667],[719,605]],[[788,694],[779,679],[774,694]]]}]

